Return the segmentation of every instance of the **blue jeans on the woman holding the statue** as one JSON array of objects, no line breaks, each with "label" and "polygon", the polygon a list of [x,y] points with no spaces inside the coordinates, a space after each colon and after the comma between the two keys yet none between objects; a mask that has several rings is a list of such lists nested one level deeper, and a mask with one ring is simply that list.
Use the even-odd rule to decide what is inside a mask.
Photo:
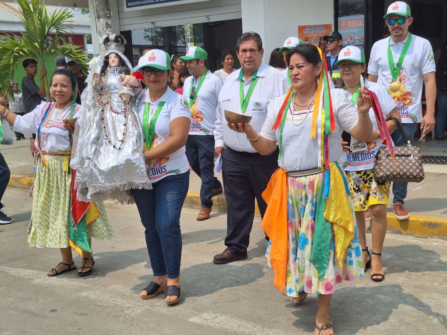
[{"label": "blue jeans on the woman holding the statue", "polygon": [[190,172],[166,176],[152,189],[132,189],[143,223],[154,276],[180,276],[180,212],[190,185]]}]

